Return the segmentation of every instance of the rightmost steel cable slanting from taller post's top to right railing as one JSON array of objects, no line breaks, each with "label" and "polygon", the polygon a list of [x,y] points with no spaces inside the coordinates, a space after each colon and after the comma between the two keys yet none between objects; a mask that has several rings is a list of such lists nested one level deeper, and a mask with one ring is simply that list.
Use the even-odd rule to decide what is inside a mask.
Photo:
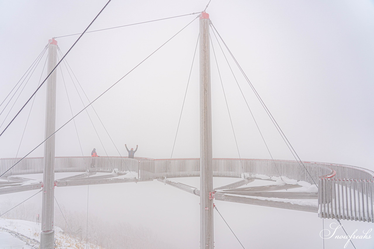
[{"label": "rightmost steel cable slanting from taller post's top to right railing", "polygon": [[[248,79],[248,77],[246,76],[246,74],[244,73],[243,69],[240,67],[239,63],[236,61],[234,55],[231,53],[229,47],[227,47],[226,43],[223,41],[222,37],[221,37],[220,34],[218,33],[217,29],[214,27],[214,25],[212,24],[212,22],[211,22],[211,25],[212,25],[212,27],[214,28],[214,30],[217,32],[218,36],[220,37],[221,41],[222,41],[223,44],[225,45],[226,49],[229,51],[230,55],[232,56],[234,62],[235,62],[236,65],[238,66],[238,68],[239,68],[239,70],[241,71],[241,73],[243,74],[243,76],[245,77],[245,79],[246,79],[246,81],[248,82],[249,86],[251,86],[252,90],[254,91],[254,93],[255,93],[255,95],[257,96],[258,100],[260,101],[261,105],[263,105],[263,107],[264,107],[266,113],[268,114],[268,116],[269,116],[270,119],[272,120],[273,124],[276,126],[277,130],[279,129],[278,132],[281,133],[282,138],[283,138],[283,136],[284,136],[284,139],[287,141],[287,142],[285,141],[286,144],[288,143],[289,146],[291,147],[290,150],[292,149],[292,150],[291,150],[292,155],[294,155],[294,153],[295,153],[296,157],[298,158],[298,159],[297,159],[297,158],[295,157],[295,155],[294,155],[296,161],[298,162],[299,165],[300,165],[300,163],[301,163],[301,165],[304,167],[304,169],[306,170],[306,172],[308,173],[308,175],[310,176],[310,178],[312,179],[312,181],[314,182],[314,184],[315,184],[315,185],[317,186],[317,188],[318,188],[318,185],[317,185],[316,182],[314,181],[313,177],[310,175],[310,173],[309,173],[309,171],[307,170],[307,168],[305,167],[304,163],[300,160],[300,157],[297,155],[297,153],[296,153],[296,151],[294,150],[294,148],[292,147],[291,143],[288,141],[287,137],[284,135],[284,133],[283,133],[281,127],[279,127],[278,123],[275,121],[275,119],[274,119],[274,117],[272,116],[272,114],[270,113],[269,109],[266,107],[266,105],[265,105],[265,103],[263,102],[263,100],[261,99],[260,95],[258,95],[258,93],[257,93],[257,91],[255,90],[255,88],[253,87],[252,83],[250,82],[250,80]],[[284,139],[283,139],[283,140],[284,140]]]}]

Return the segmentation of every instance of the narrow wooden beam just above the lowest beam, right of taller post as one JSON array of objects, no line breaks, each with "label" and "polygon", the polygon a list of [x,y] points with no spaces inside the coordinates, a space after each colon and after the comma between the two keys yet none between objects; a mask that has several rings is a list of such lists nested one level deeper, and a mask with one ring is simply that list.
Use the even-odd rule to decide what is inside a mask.
[{"label": "narrow wooden beam just above the lowest beam, right of taller post", "polygon": [[238,192],[230,192],[230,194],[237,194],[241,196],[260,196],[260,197],[267,197],[267,198],[274,197],[274,198],[281,198],[281,199],[318,199],[318,193],[306,193],[306,192],[238,191]]}]

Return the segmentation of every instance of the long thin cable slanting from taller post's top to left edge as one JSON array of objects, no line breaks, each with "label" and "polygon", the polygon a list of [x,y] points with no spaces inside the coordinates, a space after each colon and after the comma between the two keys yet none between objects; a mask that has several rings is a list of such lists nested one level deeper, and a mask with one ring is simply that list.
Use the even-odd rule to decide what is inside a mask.
[{"label": "long thin cable slanting from taller post's top to left edge", "polygon": [[[189,22],[186,26],[184,26],[180,31],[178,31],[177,34],[179,34],[182,30],[184,30],[188,25],[190,25],[194,20],[196,20],[199,16],[197,16],[196,18],[194,18],[191,22]],[[79,113],[77,113],[74,117],[72,117],[70,120],[68,120],[65,124],[63,124],[61,127],[59,127],[55,132],[53,132],[50,136],[48,136],[46,139],[43,140],[43,142],[41,142],[39,145],[37,145],[33,150],[31,150],[29,153],[27,153],[24,157],[22,157],[20,160],[18,160],[18,162],[16,162],[13,166],[11,166],[9,169],[7,169],[4,173],[2,173],[0,175],[3,176],[6,172],[8,172],[10,169],[12,169],[14,166],[16,166],[19,162],[21,162],[21,160],[23,160],[25,157],[27,157],[28,155],[30,155],[30,153],[32,153],[34,150],[36,150],[40,145],[42,145],[45,141],[47,141],[47,139],[49,139],[51,136],[55,135],[56,132],[58,132],[62,127],[64,127],[67,123],[69,123],[71,120],[73,120],[76,116],[78,116],[80,113],[82,113],[82,111],[86,110],[87,107],[89,107],[90,105],[92,105],[93,102],[95,102],[98,98],[100,98],[102,95],[104,95],[106,92],[108,92],[108,90],[110,90],[113,86],[115,86],[118,82],[120,82],[120,80],[122,80],[123,78],[125,78],[129,73],[131,73],[132,71],[135,70],[135,68],[137,68],[140,64],[142,64],[145,60],[147,60],[150,56],[152,56],[154,53],[157,52],[157,50],[159,50],[161,47],[163,47],[166,43],[168,43],[171,39],[173,39],[175,36],[177,36],[177,34],[175,34],[174,36],[172,36],[169,40],[167,40],[165,43],[163,43],[158,49],[154,50],[153,53],[151,53],[150,55],[148,55],[144,60],[142,60],[138,65],[136,65],[134,68],[132,68],[128,73],[125,74],[125,76],[123,76],[121,79],[119,79],[116,83],[114,83],[113,85],[111,85],[107,90],[105,90],[103,93],[101,93],[98,97],[96,97],[92,102],[90,102],[85,108],[83,108],[82,110],[79,111]],[[65,54],[66,55],[66,54]],[[64,59],[64,58],[62,58]],[[61,60],[62,60],[61,59]]]}]

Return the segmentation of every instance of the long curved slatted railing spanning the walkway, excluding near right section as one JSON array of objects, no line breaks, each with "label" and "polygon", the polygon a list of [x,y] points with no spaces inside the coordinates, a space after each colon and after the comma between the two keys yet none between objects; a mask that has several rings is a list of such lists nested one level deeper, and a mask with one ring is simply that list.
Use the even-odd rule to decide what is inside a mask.
[{"label": "long curved slatted railing spanning the walkway, excluding near right section", "polygon": [[[9,167],[21,158],[0,159],[0,172],[5,172]],[[55,172],[112,172],[135,171],[140,179],[157,179],[160,177],[177,178],[200,175],[199,158],[174,158],[174,159],[150,159],[145,157],[56,157]],[[270,160],[270,159],[237,159],[215,158],[213,159],[214,176],[234,177],[243,176],[257,179],[272,179],[285,176],[298,181],[314,183],[318,178],[350,178],[373,179],[374,172],[360,167],[341,165],[335,163],[322,163],[294,160]],[[308,173],[306,170],[308,170]],[[9,175],[24,175],[43,172],[43,157],[28,157],[23,159],[16,167],[7,172]],[[312,179],[310,178],[310,175]],[[275,179],[275,178],[274,178]]]}]

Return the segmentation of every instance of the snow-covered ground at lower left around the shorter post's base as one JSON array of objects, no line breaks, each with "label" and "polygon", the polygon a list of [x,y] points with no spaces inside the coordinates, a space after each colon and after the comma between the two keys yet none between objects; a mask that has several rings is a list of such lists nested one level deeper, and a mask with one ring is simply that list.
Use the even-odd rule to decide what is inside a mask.
[{"label": "snow-covered ground at lower left around the shorter post's base", "polygon": [[[75,240],[64,231],[55,227],[55,248],[78,249],[86,248],[86,243]],[[36,222],[19,219],[0,218],[0,248],[1,249],[38,249],[40,245],[41,226]],[[88,248],[100,248],[88,244]]]}]

